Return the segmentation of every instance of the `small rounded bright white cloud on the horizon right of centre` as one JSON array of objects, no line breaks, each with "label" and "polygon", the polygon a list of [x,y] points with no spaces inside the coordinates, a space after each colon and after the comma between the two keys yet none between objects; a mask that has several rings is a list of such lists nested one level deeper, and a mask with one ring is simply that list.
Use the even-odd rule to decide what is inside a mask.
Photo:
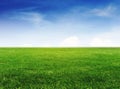
[{"label": "small rounded bright white cloud on the horizon right of centre", "polygon": [[66,38],[61,44],[61,47],[78,47],[80,40],[76,36]]}]

